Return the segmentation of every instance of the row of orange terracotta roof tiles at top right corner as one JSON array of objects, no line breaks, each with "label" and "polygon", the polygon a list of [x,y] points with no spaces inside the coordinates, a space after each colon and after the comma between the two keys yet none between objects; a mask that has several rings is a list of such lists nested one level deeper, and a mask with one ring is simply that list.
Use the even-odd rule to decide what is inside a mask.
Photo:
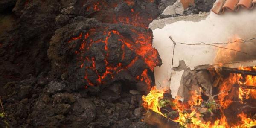
[{"label": "row of orange terracotta roof tiles at top right corner", "polygon": [[239,8],[253,9],[256,0],[217,0],[212,7],[212,12],[216,14],[224,13],[226,10],[238,11]]}]

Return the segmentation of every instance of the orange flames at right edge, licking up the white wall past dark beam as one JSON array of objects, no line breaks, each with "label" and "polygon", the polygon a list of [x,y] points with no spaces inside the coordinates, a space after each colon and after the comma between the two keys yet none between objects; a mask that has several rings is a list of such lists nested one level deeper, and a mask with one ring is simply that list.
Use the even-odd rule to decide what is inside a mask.
[{"label": "orange flames at right edge, licking up the white wall past dark beam", "polygon": [[[230,39],[228,44],[223,48],[219,48],[217,55],[215,56],[215,63],[220,64],[219,66],[222,67],[224,63],[230,63],[235,61],[235,56],[239,50],[241,50],[241,39],[235,35]],[[233,50],[230,50],[233,49]],[[249,70],[249,71],[256,71],[256,67],[239,67],[239,70]],[[218,75],[221,76],[220,73],[218,73],[218,70],[215,70]],[[245,89],[244,86],[256,86],[256,76],[250,76],[247,75],[245,78],[241,74],[232,74],[230,73],[229,77],[226,79],[221,78],[221,85],[219,85],[219,102],[223,108],[227,108],[231,103],[234,96],[236,96],[236,90],[233,89],[234,84],[239,85],[239,99],[241,100],[241,103],[243,103],[246,99],[256,99],[256,90],[252,89]],[[229,91],[232,92],[232,94],[228,93]]]}]

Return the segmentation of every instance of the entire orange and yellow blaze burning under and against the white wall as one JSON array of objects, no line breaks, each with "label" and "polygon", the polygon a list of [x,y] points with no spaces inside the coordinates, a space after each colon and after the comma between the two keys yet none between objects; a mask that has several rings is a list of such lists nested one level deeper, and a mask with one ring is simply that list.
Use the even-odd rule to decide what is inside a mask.
[{"label": "entire orange and yellow blaze burning under and against the white wall", "polygon": [[[231,43],[226,48],[239,50],[240,45]],[[228,63],[233,60],[236,54],[236,51],[219,49],[215,61],[218,63]],[[256,66],[241,66],[237,69],[256,72]],[[209,97],[208,100],[204,101],[201,97],[202,92],[192,91],[190,92],[190,99],[187,102],[181,102],[179,97],[176,99],[166,99],[163,90],[157,90],[156,87],[153,87],[147,96],[142,97],[144,101],[143,106],[162,116],[168,117],[174,122],[178,122],[182,128],[251,128],[256,126],[254,115],[256,113],[244,113],[244,111],[248,111],[246,109],[250,108],[241,107],[244,108],[241,111],[238,111],[238,108],[234,108],[235,106],[250,106],[250,103],[256,101],[256,90],[254,89],[256,88],[256,76],[236,73],[228,73],[228,75],[223,76],[215,68],[209,69],[209,71],[215,74],[215,76],[220,76],[218,94],[215,97]],[[234,87],[235,85],[236,87]],[[246,88],[248,86],[253,89]],[[234,101],[234,99],[237,101]],[[232,104],[233,106],[230,106]],[[169,109],[167,108],[168,105]],[[164,113],[166,109],[168,109],[168,113]],[[237,109],[237,112],[227,113],[229,109]],[[175,115],[174,113],[177,113],[177,116],[169,117],[170,113],[172,113],[172,116]],[[208,116],[208,120],[205,120],[205,118],[207,119],[207,117],[204,117],[207,115],[205,113],[211,115]],[[228,114],[231,114],[232,117]]]}]

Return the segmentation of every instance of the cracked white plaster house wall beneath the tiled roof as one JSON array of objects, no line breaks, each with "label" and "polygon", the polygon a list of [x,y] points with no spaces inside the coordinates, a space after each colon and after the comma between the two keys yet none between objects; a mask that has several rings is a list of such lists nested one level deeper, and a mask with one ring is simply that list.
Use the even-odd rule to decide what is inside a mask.
[{"label": "cracked white plaster house wall beneath the tiled roof", "polygon": [[[189,18],[191,19],[191,16]],[[227,42],[234,38],[243,39],[234,42],[240,45],[241,49],[227,49],[238,52],[236,58],[230,61],[235,63],[225,66],[256,65],[256,61],[253,61],[256,60],[256,9],[241,9],[236,13],[227,12],[222,15],[210,12],[205,20],[193,21],[195,19],[166,24],[161,29],[156,26],[153,28],[153,46],[158,50],[163,62],[160,67],[154,68],[156,85],[170,88],[173,97],[177,96],[184,70],[172,71],[172,67],[178,67],[180,60],[192,70],[198,65],[216,64],[214,58],[218,49],[225,47]],[[158,22],[163,24],[166,19]],[[176,42],[175,48],[170,36]]]}]

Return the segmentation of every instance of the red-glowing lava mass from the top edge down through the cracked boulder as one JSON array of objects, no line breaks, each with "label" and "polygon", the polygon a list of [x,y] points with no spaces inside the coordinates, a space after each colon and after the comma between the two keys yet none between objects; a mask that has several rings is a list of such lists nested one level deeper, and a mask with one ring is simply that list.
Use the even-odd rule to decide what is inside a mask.
[{"label": "red-glowing lava mass from the top edge down through the cracked boulder", "polygon": [[[70,69],[79,67],[75,71],[79,78],[83,73],[83,80],[78,79],[77,84],[99,86],[131,81],[142,91],[151,89],[154,79],[149,74],[161,64],[157,50],[152,47],[152,31],[148,29],[148,24],[159,15],[157,8],[151,8],[153,2],[79,1],[76,7],[82,10],[80,15],[96,20],[76,23],[80,29],[74,30],[65,42],[72,49],[69,54],[76,58]],[[142,8],[142,4],[147,7]],[[70,76],[76,74],[72,72]]]}]

